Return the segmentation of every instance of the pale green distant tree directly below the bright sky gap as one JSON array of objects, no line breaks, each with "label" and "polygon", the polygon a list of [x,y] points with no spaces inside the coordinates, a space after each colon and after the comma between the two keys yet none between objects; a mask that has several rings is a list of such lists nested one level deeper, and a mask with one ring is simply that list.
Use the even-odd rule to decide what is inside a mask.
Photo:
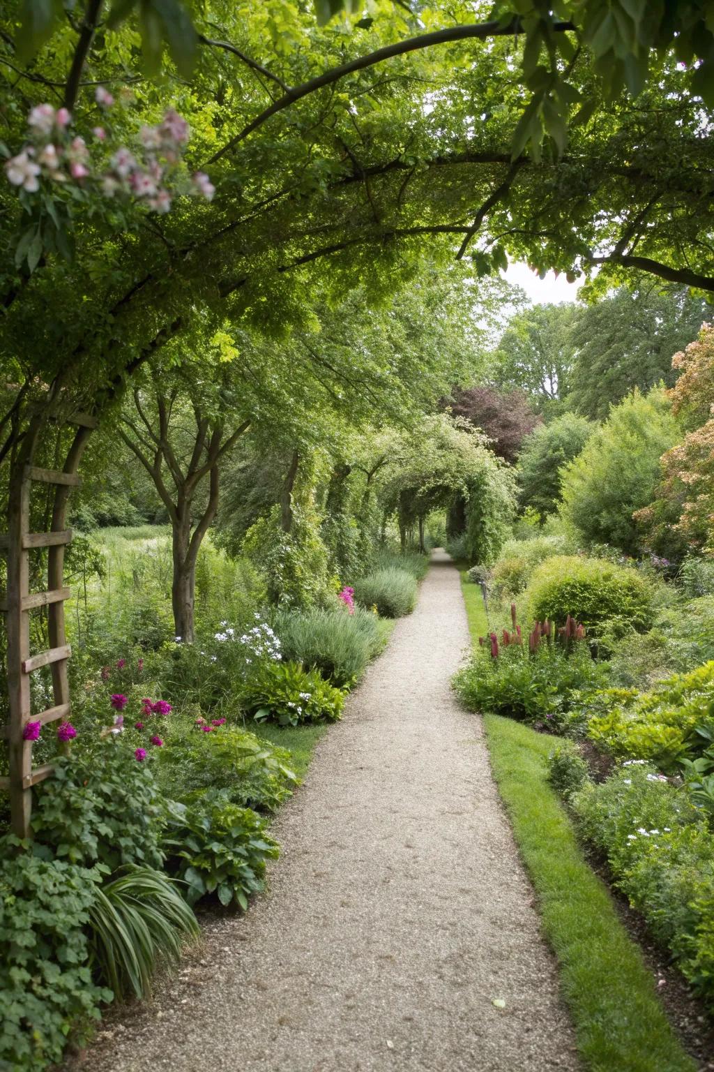
[{"label": "pale green distant tree directly below the bright sky gap", "polygon": [[498,383],[525,391],[540,413],[552,413],[567,394],[571,332],[579,312],[569,302],[525,309],[513,317],[493,355]]}]

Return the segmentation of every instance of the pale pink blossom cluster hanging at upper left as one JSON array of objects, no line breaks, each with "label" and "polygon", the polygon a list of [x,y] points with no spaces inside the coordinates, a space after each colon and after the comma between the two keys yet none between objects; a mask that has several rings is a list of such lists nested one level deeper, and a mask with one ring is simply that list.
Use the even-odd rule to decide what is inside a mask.
[{"label": "pale pink blossom cluster hanging at upper left", "polygon": [[[97,86],[95,100],[108,110],[115,103],[111,93]],[[168,212],[177,194],[194,193],[211,200],[215,188],[208,175],[197,172],[188,185],[176,182],[173,169],[181,163],[191,137],[191,129],[173,108],[156,126],[142,126],[138,154],[120,146],[103,166],[95,166],[87,143],[69,130],[72,116],[66,108],[39,104],[28,116],[30,138],[21,152],[5,164],[7,181],[27,193],[36,193],[43,179],[52,183],[74,181],[80,187],[96,184],[105,197],[124,194],[146,204],[154,212]],[[102,144],[107,134],[103,126],[92,129]]]}]

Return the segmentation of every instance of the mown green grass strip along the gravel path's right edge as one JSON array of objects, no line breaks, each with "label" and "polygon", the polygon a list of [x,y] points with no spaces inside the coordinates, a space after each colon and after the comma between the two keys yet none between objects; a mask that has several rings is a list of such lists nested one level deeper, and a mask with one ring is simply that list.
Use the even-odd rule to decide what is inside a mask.
[{"label": "mown green grass strip along the gravel path's right edge", "polygon": [[[478,585],[461,572],[471,637],[487,631]],[[498,715],[484,717],[493,775],[558,959],[576,1043],[591,1072],[696,1072],[657,997],[639,947],[624,929],[607,887],[582,857],[550,788],[552,738]]]}]

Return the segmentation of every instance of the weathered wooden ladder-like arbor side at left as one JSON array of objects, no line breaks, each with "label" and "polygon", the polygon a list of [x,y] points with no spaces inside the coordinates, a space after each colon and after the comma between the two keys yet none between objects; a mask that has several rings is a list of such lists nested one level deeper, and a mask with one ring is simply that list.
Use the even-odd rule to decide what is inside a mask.
[{"label": "weathered wooden ladder-like arbor side at left", "polygon": [[[63,585],[64,549],[72,539],[65,527],[66,507],[72,488],[79,483],[77,468],[91,430],[96,427],[94,417],[75,414],[69,425],[76,427],[72,445],[62,470],[40,468],[32,464],[44,420],[31,421],[18,456],[10,473],[7,504],[7,532],[0,536],[0,548],[7,554],[7,591],[2,601],[7,630],[7,689],[10,721],[0,729],[7,739],[10,774],[0,778],[0,789],[10,793],[11,825],[13,833],[27,837],[30,831],[32,786],[51,773],[51,763],[32,766],[32,742],[24,738],[29,721],[43,726],[57,719],[66,721],[70,716],[70,684],[67,659],[71,655],[64,627],[64,601],[70,590]],[[30,532],[30,496],[33,483],[55,488],[51,527],[48,532]],[[47,548],[47,591],[30,592],[30,552]],[[50,647],[36,655],[30,654],[30,611],[47,607]],[[41,667],[50,666],[52,675],[51,708],[33,715],[30,699],[30,674]]]}]

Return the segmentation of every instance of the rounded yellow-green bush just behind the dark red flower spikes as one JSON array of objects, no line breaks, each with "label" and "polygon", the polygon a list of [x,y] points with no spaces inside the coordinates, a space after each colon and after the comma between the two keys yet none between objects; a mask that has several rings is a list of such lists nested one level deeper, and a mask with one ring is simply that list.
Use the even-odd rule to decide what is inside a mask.
[{"label": "rounded yellow-green bush just behind the dark red flower spikes", "polygon": [[652,585],[634,569],[597,559],[557,555],[533,572],[529,616],[564,622],[568,614],[593,637],[643,631],[652,624]]}]

